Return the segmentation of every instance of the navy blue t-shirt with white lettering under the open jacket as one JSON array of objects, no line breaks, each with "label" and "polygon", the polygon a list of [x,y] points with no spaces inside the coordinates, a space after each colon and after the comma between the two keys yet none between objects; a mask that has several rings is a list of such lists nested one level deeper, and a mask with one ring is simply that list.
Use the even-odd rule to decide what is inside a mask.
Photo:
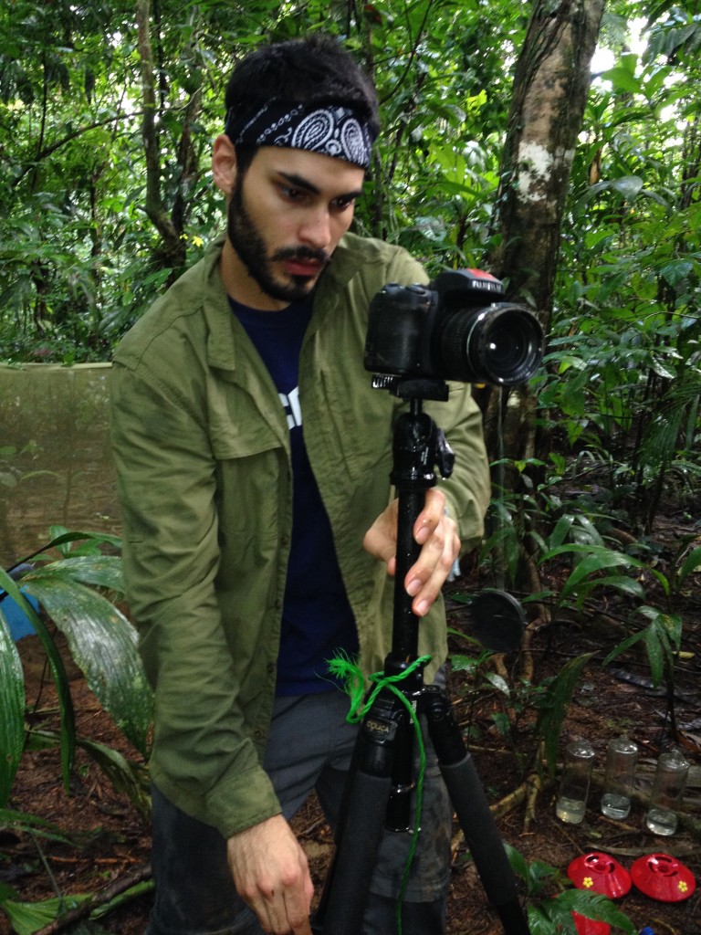
[{"label": "navy blue t-shirt with white lettering under the open jacket", "polygon": [[[287,413],[293,468],[293,529],[282,611],[278,695],[304,695],[335,685],[327,662],[339,649],[355,654],[358,637],[341,579],[331,524],[311,470],[299,400],[299,354],[311,299],[281,311],[259,311],[229,299],[261,355]],[[270,496],[275,496],[271,491]]]}]

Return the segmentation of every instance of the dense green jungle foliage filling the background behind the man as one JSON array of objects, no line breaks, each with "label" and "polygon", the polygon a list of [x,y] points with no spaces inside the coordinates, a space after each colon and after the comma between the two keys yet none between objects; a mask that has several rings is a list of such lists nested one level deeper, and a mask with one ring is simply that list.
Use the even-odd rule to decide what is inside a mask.
[{"label": "dense green jungle foliage filling the background behind the man", "polygon": [[[561,6],[0,6],[0,359],[109,358],[221,224],[208,159],[231,65],[263,40],[309,30],[340,36],[378,84],[383,132],[359,232],[405,246],[431,273],[490,268],[505,255],[514,80],[524,56],[541,51],[526,45],[531,14]],[[682,639],[674,597],[701,568],[695,537],[661,564],[652,535],[663,496],[693,514],[701,474],[699,47],[696,0],[606,7],[555,238],[545,366],[524,415],[529,444],[491,452],[495,496],[479,556],[493,583],[530,596],[532,620],[581,610],[604,590],[629,598],[630,635],[618,652],[643,642],[669,704]],[[523,271],[499,275],[528,281]],[[519,299],[544,310],[528,288]],[[114,585],[106,557],[97,577],[91,560],[22,585],[49,612],[57,601],[60,614],[54,595],[66,580],[72,588],[88,574],[87,583]],[[566,569],[557,590],[553,568],[561,582]],[[7,576],[0,583],[14,587]],[[544,710],[565,710],[571,682],[550,687]],[[15,694],[3,798],[24,743]],[[58,741],[64,769],[76,742],[69,701]],[[552,745],[559,725],[547,727]],[[547,753],[554,768],[556,750]]]}]

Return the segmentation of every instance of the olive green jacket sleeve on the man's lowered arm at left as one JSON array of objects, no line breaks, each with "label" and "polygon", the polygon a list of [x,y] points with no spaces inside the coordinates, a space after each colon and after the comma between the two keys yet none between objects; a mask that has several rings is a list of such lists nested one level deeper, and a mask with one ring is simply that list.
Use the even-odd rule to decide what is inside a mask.
[{"label": "olive green jacket sleeve on the man's lowered arm at left", "polygon": [[228,837],[280,808],[237,703],[214,587],[214,459],[188,379],[116,363],[112,444],[127,598],[155,689],[151,778]]}]

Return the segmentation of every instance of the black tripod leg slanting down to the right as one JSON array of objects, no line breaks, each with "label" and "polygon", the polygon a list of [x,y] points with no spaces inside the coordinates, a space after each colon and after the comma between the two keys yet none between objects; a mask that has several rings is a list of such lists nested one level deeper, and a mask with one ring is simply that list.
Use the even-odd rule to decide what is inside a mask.
[{"label": "black tripod leg slanting down to the right", "polygon": [[485,893],[499,913],[507,935],[530,935],[504,842],[472,756],[465,750],[450,701],[434,686],[424,689],[424,698],[430,699],[424,712],[440,771]]}]

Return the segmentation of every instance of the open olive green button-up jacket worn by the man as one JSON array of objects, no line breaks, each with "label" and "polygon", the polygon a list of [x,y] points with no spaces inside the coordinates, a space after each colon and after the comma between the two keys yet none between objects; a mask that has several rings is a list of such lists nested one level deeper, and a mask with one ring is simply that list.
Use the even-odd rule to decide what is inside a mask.
[{"label": "open olive green button-up jacket worn by the man", "polygon": [[[151,777],[228,837],[280,811],[261,763],[292,477],[278,393],[222,286],[222,242],[122,340],[111,394],[127,598],[156,697]],[[407,252],[344,237],[318,287],[299,372],[309,461],[367,673],[390,648],[393,586],[362,541],[393,498],[393,416],[405,407],[373,389],[363,366],[368,304],[389,281],[426,277]],[[479,410],[467,386],[452,384],[432,414],[456,453],[441,486],[468,548],[489,496]],[[442,602],[420,634],[430,682],[447,654]]]}]

